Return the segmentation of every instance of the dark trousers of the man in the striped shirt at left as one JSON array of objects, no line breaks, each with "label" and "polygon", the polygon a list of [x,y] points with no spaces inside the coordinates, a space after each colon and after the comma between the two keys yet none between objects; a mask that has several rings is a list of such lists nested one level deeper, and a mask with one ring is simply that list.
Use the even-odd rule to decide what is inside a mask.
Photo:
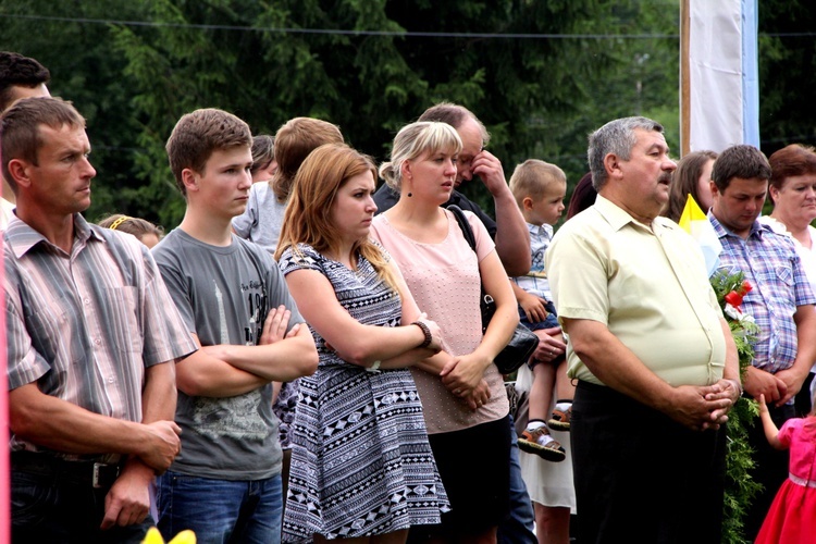
[{"label": "dark trousers of the man in the striped shirt at left", "polygon": [[99,529],[108,491],[61,474],[12,470],[12,542],[140,543],[153,526],[149,516],[138,524]]}]

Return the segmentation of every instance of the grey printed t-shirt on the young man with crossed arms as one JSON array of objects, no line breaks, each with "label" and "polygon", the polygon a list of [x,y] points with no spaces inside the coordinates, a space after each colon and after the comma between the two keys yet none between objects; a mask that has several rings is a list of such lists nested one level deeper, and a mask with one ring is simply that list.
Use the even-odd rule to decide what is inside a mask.
[{"label": "grey printed t-shirt on the young man with crossed arms", "polygon": [[[280,305],[292,310],[289,327],[304,322],[277,265],[256,244],[233,235],[230,246],[211,246],[176,228],[152,254],[182,319],[202,346],[256,345],[269,308]],[[219,480],[281,472],[270,384],[224,398],[180,391],[176,423],[182,453],[173,471]]]}]

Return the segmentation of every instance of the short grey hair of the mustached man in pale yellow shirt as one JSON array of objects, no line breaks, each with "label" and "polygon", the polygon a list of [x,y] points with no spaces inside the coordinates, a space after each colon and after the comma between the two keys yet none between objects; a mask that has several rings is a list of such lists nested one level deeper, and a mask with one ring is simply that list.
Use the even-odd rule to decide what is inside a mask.
[{"label": "short grey hair of the mustached man in pale yellow shirt", "polygon": [[638,143],[635,128],[663,134],[663,125],[647,118],[622,118],[609,121],[604,126],[590,134],[590,148],[586,158],[592,172],[592,186],[601,190],[606,184],[606,166],[604,158],[613,153],[621,160],[628,161],[632,148]]}]

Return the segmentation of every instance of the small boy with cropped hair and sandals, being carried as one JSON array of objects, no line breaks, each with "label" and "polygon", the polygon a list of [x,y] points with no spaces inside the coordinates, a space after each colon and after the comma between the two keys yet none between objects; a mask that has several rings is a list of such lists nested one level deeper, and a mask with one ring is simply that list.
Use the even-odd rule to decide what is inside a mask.
[{"label": "small boy with cropped hair and sandals, being carried", "polygon": [[[558,320],[544,271],[544,254],[553,238],[553,224],[564,212],[567,176],[555,164],[531,159],[516,166],[510,177],[510,190],[528,223],[532,250],[532,268],[528,275],[511,279],[512,289],[519,302],[521,323],[531,331],[540,331],[541,338],[539,348],[528,361],[534,379],[530,390],[529,422],[519,438],[519,448],[549,461],[561,461],[566,453],[551,436],[547,424],[560,431],[569,430],[574,387],[566,374],[566,345],[551,336],[552,329],[558,327]],[[558,401],[546,421],[554,387],[558,392]]]}]

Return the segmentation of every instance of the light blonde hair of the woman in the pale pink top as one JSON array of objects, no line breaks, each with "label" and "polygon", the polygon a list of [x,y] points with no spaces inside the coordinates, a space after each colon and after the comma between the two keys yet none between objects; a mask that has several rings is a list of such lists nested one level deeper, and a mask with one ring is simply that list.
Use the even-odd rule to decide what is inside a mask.
[{"label": "light blonde hair of the woman in the pale pink top", "polygon": [[380,166],[380,176],[388,187],[396,191],[403,185],[403,164],[423,154],[438,151],[461,151],[461,138],[456,129],[447,123],[435,121],[418,121],[405,125],[394,138],[391,150],[391,161]]}]

